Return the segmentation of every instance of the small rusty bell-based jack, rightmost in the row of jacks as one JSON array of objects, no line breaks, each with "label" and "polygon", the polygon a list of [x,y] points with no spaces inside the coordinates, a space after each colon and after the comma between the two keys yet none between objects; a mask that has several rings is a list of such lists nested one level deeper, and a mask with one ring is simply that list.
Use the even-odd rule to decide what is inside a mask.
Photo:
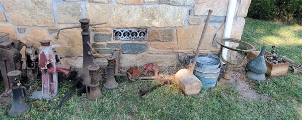
[{"label": "small rusty bell-based jack, rightmost in the row of jacks", "polygon": [[[114,78],[114,70],[115,70],[115,59],[118,58],[119,51],[115,51],[113,56],[106,57],[108,64],[107,69],[103,70],[103,77],[106,79],[106,82],[103,86],[106,89],[115,89],[118,87],[118,83],[115,81]],[[107,70],[107,76],[105,75],[105,70]]]}]

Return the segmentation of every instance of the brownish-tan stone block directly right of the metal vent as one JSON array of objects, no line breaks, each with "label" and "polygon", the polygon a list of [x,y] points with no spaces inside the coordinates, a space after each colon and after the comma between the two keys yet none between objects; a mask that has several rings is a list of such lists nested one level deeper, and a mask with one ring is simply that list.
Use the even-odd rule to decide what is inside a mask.
[{"label": "brownish-tan stone block directly right of the metal vent", "polygon": [[171,42],[176,40],[176,30],[175,29],[149,29],[148,31],[148,41],[162,41]]}]

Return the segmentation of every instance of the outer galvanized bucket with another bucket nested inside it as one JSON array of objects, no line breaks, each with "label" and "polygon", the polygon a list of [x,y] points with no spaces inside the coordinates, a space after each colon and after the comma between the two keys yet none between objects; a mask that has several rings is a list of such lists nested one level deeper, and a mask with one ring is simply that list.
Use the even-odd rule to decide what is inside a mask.
[{"label": "outer galvanized bucket with another bucket nested inside it", "polygon": [[[190,62],[190,67],[192,66],[192,61]],[[221,66],[220,62],[217,68],[205,68],[196,65],[193,74],[201,81],[202,88],[214,87],[217,83]]]}]

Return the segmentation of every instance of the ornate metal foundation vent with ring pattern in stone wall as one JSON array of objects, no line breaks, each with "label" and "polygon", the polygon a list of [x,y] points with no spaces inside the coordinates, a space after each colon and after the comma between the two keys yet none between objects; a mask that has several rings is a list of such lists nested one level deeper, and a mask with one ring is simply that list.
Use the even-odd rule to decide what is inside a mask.
[{"label": "ornate metal foundation vent with ring pattern in stone wall", "polygon": [[114,40],[146,41],[147,29],[113,29]]}]

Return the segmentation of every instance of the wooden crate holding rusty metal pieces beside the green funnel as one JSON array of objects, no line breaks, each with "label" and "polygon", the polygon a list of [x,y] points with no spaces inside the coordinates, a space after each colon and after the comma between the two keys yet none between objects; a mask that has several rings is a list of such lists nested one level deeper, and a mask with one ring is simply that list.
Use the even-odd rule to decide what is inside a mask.
[{"label": "wooden crate holding rusty metal pieces beside the green funnel", "polygon": [[[260,51],[254,51],[250,53],[249,61],[254,59],[256,56],[260,54]],[[271,55],[271,53],[265,51],[264,55]],[[285,75],[287,73],[289,63],[283,61],[283,63],[272,64],[265,60],[265,64],[267,67],[266,74],[269,76],[280,76]]]}]

